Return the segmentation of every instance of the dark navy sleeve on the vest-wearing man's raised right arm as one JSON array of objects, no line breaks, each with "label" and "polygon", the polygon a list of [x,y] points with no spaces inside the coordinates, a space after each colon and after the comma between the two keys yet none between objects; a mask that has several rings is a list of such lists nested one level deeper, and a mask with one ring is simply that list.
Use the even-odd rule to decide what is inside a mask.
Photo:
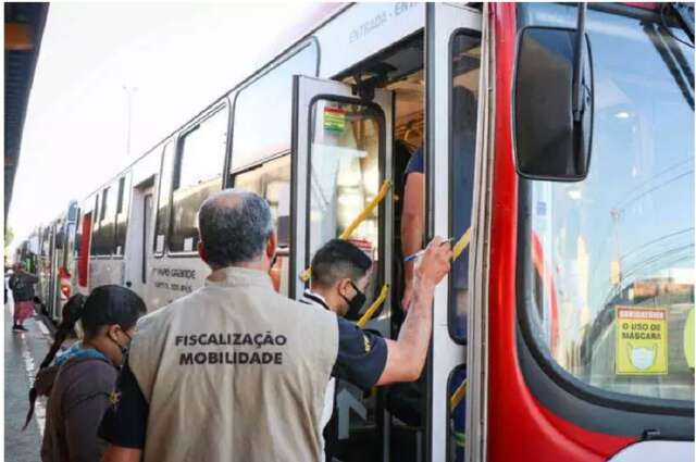
[{"label": "dark navy sleeve on the vest-wearing man's raised right arm", "polygon": [[387,363],[384,339],[356,324],[338,320],[338,355],[332,375],[362,389],[373,387]]}]

